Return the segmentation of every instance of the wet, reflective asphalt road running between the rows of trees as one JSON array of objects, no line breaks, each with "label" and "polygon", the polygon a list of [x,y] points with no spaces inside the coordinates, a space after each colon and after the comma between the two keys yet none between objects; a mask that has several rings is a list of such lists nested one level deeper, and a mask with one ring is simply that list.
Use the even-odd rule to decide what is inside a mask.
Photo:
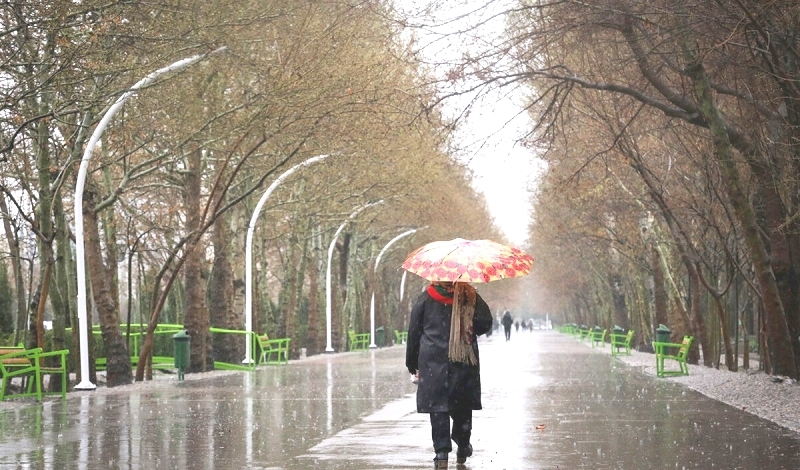
[{"label": "wet, reflective asphalt road running between the rows of trees", "polygon": [[[462,469],[797,469],[800,434],[552,331],[480,338]],[[425,469],[395,346],[0,409],[0,469]],[[456,468],[455,453],[451,468]]]}]

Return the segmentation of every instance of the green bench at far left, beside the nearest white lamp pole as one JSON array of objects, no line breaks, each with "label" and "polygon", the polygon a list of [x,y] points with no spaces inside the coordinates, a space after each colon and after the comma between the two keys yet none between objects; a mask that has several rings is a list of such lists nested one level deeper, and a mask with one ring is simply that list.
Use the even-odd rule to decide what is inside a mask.
[{"label": "green bench at far left, beside the nearest white lamp pole", "polygon": [[[67,385],[69,378],[67,375],[67,359],[69,351],[43,352],[41,348],[25,349],[19,346],[0,347],[0,401],[7,397],[36,397],[41,401],[43,395],[67,396]],[[45,361],[47,358],[56,358],[52,363]],[[61,390],[58,392],[48,392],[43,390],[42,382],[45,375],[60,375]],[[19,377],[23,381],[20,393],[11,395],[8,388],[14,378]],[[24,381],[27,379],[27,385]]]}]

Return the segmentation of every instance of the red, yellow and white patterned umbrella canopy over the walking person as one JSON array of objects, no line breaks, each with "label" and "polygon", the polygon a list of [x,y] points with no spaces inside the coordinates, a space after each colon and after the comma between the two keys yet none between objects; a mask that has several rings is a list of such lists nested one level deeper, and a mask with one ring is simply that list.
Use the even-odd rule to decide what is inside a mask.
[{"label": "red, yellow and white patterned umbrella canopy over the walking person", "polygon": [[436,241],[417,248],[402,268],[429,281],[491,282],[524,276],[533,257],[491,240]]}]

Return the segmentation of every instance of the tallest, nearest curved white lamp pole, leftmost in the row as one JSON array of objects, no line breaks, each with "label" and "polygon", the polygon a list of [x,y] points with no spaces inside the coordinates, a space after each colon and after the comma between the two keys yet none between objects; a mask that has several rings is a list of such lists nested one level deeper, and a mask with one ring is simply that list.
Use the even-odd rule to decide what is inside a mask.
[{"label": "tallest, nearest curved white lamp pole, leftmost in the row", "polygon": [[83,240],[83,187],[86,184],[86,173],[89,171],[89,160],[92,158],[94,148],[97,145],[97,142],[100,140],[100,136],[103,135],[103,132],[106,130],[108,123],[111,122],[111,118],[117,114],[120,108],[122,108],[122,105],[128,101],[128,98],[136,93],[136,90],[151,84],[161,75],[183,70],[186,67],[205,59],[209,55],[216,54],[217,52],[221,52],[223,50],[225,50],[225,47],[220,47],[219,49],[208,54],[200,54],[179,60],[174,64],[158,69],[150,75],[139,80],[130,88],[130,90],[126,91],[120,95],[119,98],[117,98],[117,101],[115,101],[108,111],[106,111],[103,119],[101,119],[100,123],[97,124],[92,136],[89,138],[89,143],[86,145],[86,150],[83,152],[80,168],[78,168],[78,181],[75,185],[74,197],[75,257],[77,258],[76,268],[78,271],[78,328],[81,353],[81,381],[75,386],[76,390],[94,390],[97,388],[97,386],[89,380],[89,327],[87,320],[88,315],[86,311],[86,260],[84,259],[85,247]]}]

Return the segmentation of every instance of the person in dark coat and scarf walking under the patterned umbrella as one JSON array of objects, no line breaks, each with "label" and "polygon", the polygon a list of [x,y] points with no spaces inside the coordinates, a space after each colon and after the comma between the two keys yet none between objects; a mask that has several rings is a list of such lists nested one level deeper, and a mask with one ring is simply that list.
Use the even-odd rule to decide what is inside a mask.
[{"label": "person in dark coat and scarf walking under the patterned umbrella", "polygon": [[492,321],[486,302],[462,282],[432,282],[411,310],[406,367],[417,379],[417,412],[430,414],[435,469],[447,468],[453,442],[457,463],[472,455],[472,412],[482,409],[478,336]]}]

